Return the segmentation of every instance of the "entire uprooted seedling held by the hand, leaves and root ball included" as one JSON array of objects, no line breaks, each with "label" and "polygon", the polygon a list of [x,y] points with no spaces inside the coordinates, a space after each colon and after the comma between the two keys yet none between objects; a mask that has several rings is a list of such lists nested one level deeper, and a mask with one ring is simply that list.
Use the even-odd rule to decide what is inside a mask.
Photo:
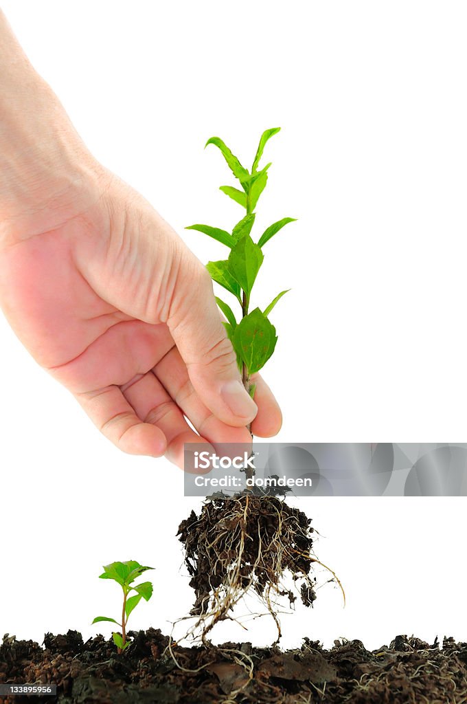
[{"label": "entire uprooted seedling held by the hand, leaves and root ball included", "polygon": [[[263,132],[250,171],[241,165],[222,139],[207,140],[206,146],[214,144],[220,149],[241,185],[241,189],[221,186],[221,191],[245,208],[246,213],[231,232],[210,225],[188,227],[188,230],[207,234],[229,249],[226,259],[210,261],[207,270],[241,308],[241,317],[237,320],[229,303],[223,298],[216,299],[226,318],[224,326],[236,353],[243,384],[252,397],[255,396],[252,375],[264,367],[276,347],[276,329],[269,315],[287,292],[277,294],[264,310],[258,307],[250,310],[252,289],[264,262],[264,247],[285,225],[295,220],[277,220],[257,241],[252,239],[255,208],[266,187],[271,165],[268,163],[260,169],[260,160],[264,146],[279,129],[274,127]],[[253,472],[245,467],[247,478]],[[231,618],[233,607],[252,589],[274,618],[279,640],[278,599],[286,597],[293,605],[299,596],[302,603],[311,606],[315,598],[312,565],[322,563],[312,552],[310,523],[298,508],[290,508],[277,496],[261,496],[255,491],[243,491],[229,501],[212,498],[204,503],[199,516],[192,511],[190,517],[181,522],[178,533],[185,548],[190,584],[196,593],[191,615],[198,620],[187,635],[196,636],[199,627],[202,640],[206,642],[212,627]],[[292,577],[296,593],[283,584],[286,573]]]}]

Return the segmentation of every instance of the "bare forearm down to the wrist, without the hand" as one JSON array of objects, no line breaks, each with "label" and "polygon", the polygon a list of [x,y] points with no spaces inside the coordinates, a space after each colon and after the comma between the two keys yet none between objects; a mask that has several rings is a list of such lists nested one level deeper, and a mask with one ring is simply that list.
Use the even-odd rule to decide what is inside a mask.
[{"label": "bare forearm down to the wrist, without the hand", "polygon": [[[0,10],[0,239],[60,225],[99,167]],[[91,178],[90,178],[91,177]],[[83,202],[80,202],[83,201]]]}]

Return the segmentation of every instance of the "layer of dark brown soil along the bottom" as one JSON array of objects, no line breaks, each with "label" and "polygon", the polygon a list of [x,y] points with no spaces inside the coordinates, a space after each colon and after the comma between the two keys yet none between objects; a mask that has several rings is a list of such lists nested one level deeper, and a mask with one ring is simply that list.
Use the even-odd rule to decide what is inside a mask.
[{"label": "layer of dark brown soil along the bottom", "polygon": [[[160,631],[131,632],[132,646],[117,655],[96,636],[76,631],[34,641],[4,637],[0,682],[56,684],[57,697],[27,698],[61,704],[463,704],[467,701],[467,643],[428,645],[397,636],[370,652],[361,641],[336,641],[323,650],[305,639],[299,650],[252,648],[250,643],[166,650]],[[250,670],[252,665],[252,670]],[[252,677],[250,677],[252,674]],[[2,704],[23,696],[0,697]]]}]

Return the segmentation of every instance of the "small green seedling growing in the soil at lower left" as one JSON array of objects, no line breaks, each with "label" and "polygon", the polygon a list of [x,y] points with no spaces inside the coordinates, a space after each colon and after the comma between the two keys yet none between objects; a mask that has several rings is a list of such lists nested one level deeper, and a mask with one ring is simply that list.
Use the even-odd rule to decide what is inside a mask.
[{"label": "small green seedling growing in the soil at lower left", "polygon": [[[127,560],[127,562],[112,562],[110,565],[103,565],[103,574],[99,575],[99,579],[113,579],[114,582],[120,584],[123,590],[123,607],[122,620],[116,621],[108,616],[97,616],[93,623],[99,621],[110,621],[117,624],[122,629],[122,634],[113,633],[113,642],[117,646],[117,653],[123,653],[124,650],[131,645],[132,641],[127,641],[127,623],[128,617],[134,608],[139,604],[141,598],[149,601],[153,595],[153,585],[151,582],[141,582],[131,586],[135,579],[141,577],[146,570],[153,570],[153,567],[143,567],[135,560]],[[131,591],[136,591],[136,594],[128,596]]]}]

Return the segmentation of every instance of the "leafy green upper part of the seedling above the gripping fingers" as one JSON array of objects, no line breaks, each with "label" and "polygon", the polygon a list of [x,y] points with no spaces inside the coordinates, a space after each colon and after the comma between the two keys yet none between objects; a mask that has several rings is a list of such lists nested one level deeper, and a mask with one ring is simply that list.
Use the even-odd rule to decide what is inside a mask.
[{"label": "leafy green upper part of the seedling above the gripping fingers", "polygon": [[221,186],[220,190],[242,208],[245,208],[246,213],[231,232],[210,225],[191,225],[186,228],[203,232],[229,249],[229,256],[226,259],[210,261],[206,268],[212,279],[226,291],[229,291],[229,294],[241,307],[241,318],[237,320],[231,306],[222,298],[216,298],[217,305],[226,318],[224,326],[236,353],[243,384],[252,398],[255,396],[255,384],[252,383],[251,377],[264,367],[276,347],[276,328],[269,321],[269,315],[279,299],[287,293],[287,290],[281,291],[264,310],[260,308],[250,310],[252,289],[264,261],[264,246],[271,237],[282,230],[284,225],[296,219],[282,218],[274,222],[264,230],[256,242],[251,237],[255,222],[255,208],[266,187],[267,171],[271,166],[271,163],[268,163],[260,169],[260,160],[268,139],[280,129],[280,127],[273,127],[271,130],[263,132],[251,171],[241,165],[229,147],[222,142],[222,139],[211,137],[207,140],[205,146],[215,144],[220,149],[231,172],[241,185],[241,189],[233,186]]}]

